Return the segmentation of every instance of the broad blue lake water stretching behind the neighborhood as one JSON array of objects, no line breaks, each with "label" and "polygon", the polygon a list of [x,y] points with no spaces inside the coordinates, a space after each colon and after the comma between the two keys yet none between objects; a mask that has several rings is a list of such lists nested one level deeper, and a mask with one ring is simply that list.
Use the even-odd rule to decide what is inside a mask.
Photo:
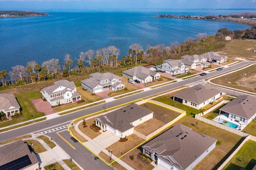
[{"label": "broad blue lake water stretching behind the neighborhood", "polygon": [[[152,17],[156,14],[178,15],[225,15],[253,10],[126,10],[126,11],[42,11],[51,16],[0,18],[0,70],[10,71],[15,65],[31,60],[43,61],[58,58],[63,64],[66,53],[73,60],[80,52],[96,51],[114,45],[122,55],[128,54],[129,46],[171,42],[183,43],[198,33],[214,35],[220,28],[244,30],[249,26],[234,22],[186,20]],[[86,65],[86,63],[84,63]]]}]

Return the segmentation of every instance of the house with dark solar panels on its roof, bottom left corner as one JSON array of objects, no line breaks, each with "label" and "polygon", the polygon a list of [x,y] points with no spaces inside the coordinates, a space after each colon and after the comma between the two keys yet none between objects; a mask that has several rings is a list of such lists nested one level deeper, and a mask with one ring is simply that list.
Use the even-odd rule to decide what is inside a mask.
[{"label": "house with dark solar panels on its roof, bottom left corner", "polygon": [[39,161],[30,148],[22,140],[0,147],[0,170],[36,170],[39,168]]}]

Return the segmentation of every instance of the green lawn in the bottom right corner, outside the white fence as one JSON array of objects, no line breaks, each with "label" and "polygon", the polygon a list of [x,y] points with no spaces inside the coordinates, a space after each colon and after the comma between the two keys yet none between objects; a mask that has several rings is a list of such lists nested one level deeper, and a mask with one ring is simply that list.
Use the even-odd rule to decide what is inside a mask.
[{"label": "green lawn in the bottom right corner, outside the white fence", "polygon": [[256,142],[248,140],[234,157],[226,164],[224,170],[251,170],[256,164]]}]

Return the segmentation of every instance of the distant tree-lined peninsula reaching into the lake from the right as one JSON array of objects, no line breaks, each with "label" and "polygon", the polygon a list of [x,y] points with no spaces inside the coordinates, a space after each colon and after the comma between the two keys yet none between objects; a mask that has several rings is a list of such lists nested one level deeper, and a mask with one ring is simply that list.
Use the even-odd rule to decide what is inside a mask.
[{"label": "distant tree-lined peninsula reaching into the lake from the right", "polygon": [[198,20],[218,20],[238,22],[256,28],[256,13],[241,13],[241,14],[227,14],[227,15],[209,15],[209,16],[190,16],[190,15],[175,15],[175,14],[156,14],[160,18],[185,18],[185,19],[198,19]]}]

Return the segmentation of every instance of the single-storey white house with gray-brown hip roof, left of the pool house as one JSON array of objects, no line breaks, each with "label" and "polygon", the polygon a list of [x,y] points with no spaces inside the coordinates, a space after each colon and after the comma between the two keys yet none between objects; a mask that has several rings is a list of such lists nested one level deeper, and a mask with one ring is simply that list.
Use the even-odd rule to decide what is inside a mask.
[{"label": "single-storey white house with gray-brown hip roof, left of the pool house", "polygon": [[217,89],[209,89],[203,85],[195,85],[173,95],[173,100],[189,107],[200,109],[218,99],[222,93]]}]

